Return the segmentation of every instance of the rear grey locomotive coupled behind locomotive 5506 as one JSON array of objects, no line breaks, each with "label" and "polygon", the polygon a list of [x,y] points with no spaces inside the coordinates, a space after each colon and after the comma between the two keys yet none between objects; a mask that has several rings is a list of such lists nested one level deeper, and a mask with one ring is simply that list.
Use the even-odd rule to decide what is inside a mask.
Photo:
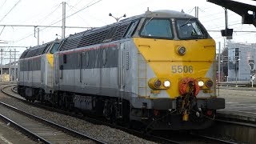
[{"label": "rear grey locomotive coupled behind locomotive 5506", "polygon": [[62,41],[55,40],[25,50],[18,61],[18,94],[30,101],[44,101],[53,89],[53,54]]}]

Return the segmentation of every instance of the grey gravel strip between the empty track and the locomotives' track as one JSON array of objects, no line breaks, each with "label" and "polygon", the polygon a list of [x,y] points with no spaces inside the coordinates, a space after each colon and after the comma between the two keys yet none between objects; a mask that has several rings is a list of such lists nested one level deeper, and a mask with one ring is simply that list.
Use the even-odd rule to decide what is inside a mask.
[{"label": "grey gravel strip between the empty track and the locomotives' track", "polygon": [[[2,95],[2,94],[1,94]],[[0,101],[6,102],[10,106],[15,106],[20,110],[26,110],[30,114],[38,115],[41,118],[46,118],[51,122],[56,122],[62,126],[69,127],[73,130],[78,130],[82,134],[89,134],[91,137],[102,140],[107,143],[145,143],[150,144],[154,142],[146,141],[145,139],[138,138],[132,134],[127,134],[122,130],[117,130],[109,126],[94,125],[84,120],[73,118],[64,114],[58,114],[48,110],[39,109],[34,106],[28,106],[14,98],[5,96],[0,97]]]}]

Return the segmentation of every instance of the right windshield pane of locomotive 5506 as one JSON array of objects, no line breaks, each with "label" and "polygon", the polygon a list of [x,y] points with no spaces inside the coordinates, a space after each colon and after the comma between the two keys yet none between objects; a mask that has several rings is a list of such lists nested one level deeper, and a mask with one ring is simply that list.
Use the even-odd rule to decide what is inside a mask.
[{"label": "right windshield pane of locomotive 5506", "polygon": [[177,20],[176,25],[180,39],[206,38],[206,31],[195,19]]}]

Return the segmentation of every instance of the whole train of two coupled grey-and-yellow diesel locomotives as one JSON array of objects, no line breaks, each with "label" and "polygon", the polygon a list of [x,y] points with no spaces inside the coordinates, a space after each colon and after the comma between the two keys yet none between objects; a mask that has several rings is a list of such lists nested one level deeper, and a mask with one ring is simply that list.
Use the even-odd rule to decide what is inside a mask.
[{"label": "whole train of two coupled grey-and-yellow diesel locomotives", "polygon": [[204,129],[216,97],[215,42],[188,14],[147,10],[25,50],[18,94],[152,130]]}]

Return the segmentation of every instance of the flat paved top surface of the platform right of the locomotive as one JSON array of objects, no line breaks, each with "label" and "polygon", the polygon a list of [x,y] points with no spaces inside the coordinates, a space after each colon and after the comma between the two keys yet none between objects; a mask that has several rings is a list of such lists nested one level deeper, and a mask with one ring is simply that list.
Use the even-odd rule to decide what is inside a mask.
[{"label": "flat paved top surface of the platform right of the locomotive", "polygon": [[217,94],[226,100],[226,108],[218,110],[218,117],[256,122],[255,87],[220,86]]}]

